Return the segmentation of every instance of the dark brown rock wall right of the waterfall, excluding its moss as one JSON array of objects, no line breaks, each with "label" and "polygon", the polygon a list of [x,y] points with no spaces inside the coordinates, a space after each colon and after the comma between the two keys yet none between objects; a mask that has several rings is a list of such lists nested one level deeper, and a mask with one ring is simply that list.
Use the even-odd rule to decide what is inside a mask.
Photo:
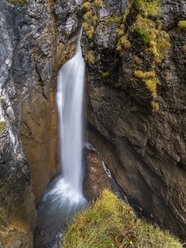
[{"label": "dark brown rock wall right of the waterfall, excluding its moss", "polygon": [[[128,43],[124,43],[123,53],[120,48],[116,51],[120,39],[116,30],[122,29],[123,23],[112,22],[108,2],[111,1],[103,8],[111,21],[105,22],[92,4],[93,15],[98,17],[95,32],[88,37],[84,30],[83,36],[89,139],[129,200],[160,226],[184,238],[186,33],[177,24],[186,19],[185,1],[162,1],[160,32],[169,34],[170,48],[154,69],[157,55],[148,52],[150,46],[138,45],[130,29],[135,23],[135,12],[129,11],[124,23],[125,32],[131,31]],[[115,13],[122,15],[121,6]],[[105,27],[101,26],[100,31],[103,22]],[[105,42],[107,35],[109,42]],[[145,87],[145,81],[134,76],[135,70],[155,71],[159,83],[154,96]],[[152,101],[158,103],[159,110],[152,109]]]}]

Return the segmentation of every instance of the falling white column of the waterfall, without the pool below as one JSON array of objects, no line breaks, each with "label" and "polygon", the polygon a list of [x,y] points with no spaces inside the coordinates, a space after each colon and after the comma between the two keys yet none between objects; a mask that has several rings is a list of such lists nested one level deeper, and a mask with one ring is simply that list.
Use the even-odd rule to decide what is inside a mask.
[{"label": "falling white column of the waterfall, without the pool below", "polygon": [[64,181],[82,192],[83,96],[85,63],[80,38],[75,56],[59,71],[56,103],[59,116],[60,165]]}]

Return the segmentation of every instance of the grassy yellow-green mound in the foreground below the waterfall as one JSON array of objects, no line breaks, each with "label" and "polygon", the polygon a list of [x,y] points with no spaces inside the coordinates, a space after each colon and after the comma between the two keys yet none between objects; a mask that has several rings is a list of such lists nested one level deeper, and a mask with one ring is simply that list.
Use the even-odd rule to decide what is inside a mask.
[{"label": "grassy yellow-green mound in the foreground below the waterfall", "polygon": [[64,248],[182,247],[167,231],[138,219],[129,205],[108,190],[76,216],[63,245]]}]

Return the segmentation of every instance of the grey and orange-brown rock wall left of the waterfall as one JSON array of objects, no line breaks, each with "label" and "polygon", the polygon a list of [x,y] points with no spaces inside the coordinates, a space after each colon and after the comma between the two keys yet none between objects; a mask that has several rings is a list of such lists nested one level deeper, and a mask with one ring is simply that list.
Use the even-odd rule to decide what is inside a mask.
[{"label": "grey and orange-brown rock wall left of the waterfall", "polygon": [[[74,52],[73,34],[79,26],[80,10],[75,1],[67,2],[28,0],[23,5],[0,2],[0,247],[3,248],[32,247],[34,202],[38,204],[58,168],[55,80],[61,64]],[[67,13],[61,17],[60,9],[72,13],[76,21]]]}]

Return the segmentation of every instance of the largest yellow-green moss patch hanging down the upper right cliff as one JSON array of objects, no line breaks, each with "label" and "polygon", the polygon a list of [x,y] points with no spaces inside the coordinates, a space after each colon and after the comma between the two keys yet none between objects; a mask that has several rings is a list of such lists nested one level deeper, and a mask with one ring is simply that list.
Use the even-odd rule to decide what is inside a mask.
[{"label": "largest yellow-green moss patch hanging down the upper right cliff", "polygon": [[[151,68],[149,68],[149,71],[139,70],[138,68],[140,68],[141,65],[139,65],[140,63],[137,61],[137,70],[134,71],[134,77],[142,81],[150,91],[153,112],[159,110],[156,97],[157,85],[160,84],[160,81],[155,73],[156,67],[163,61],[165,54],[170,49],[170,37],[167,32],[162,30],[162,24],[159,21],[160,13],[159,0],[131,0],[123,16],[123,23],[125,25],[123,29],[118,31],[120,39],[116,48],[120,55],[124,56],[131,47],[132,49],[141,47],[141,50],[146,54],[145,60],[147,57],[151,60]],[[129,25],[126,25],[127,21]],[[181,23],[180,26],[184,25]],[[141,61],[141,63],[145,64],[145,61]],[[152,72],[153,75],[150,77],[146,76]]]}]

